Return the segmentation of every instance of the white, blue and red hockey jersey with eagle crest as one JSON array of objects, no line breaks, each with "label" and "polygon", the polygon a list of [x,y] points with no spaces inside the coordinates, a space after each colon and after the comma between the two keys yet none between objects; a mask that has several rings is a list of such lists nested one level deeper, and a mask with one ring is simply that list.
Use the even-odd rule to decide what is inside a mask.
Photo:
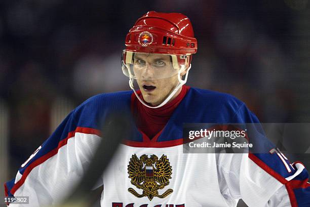
[{"label": "white, blue and red hockey jersey with eagle crest", "polygon": [[[14,206],[52,205],[67,195],[87,170],[102,121],[115,111],[130,113],[132,96],[100,94],[75,108],[5,183],[6,196],[29,196],[30,205]],[[151,140],[132,117],[128,121],[132,132],[98,184],[104,185],[103,207],[228,207],[241,198],[255,207],[310,206],[308,173],[300,162],[290,164],[277,153],[183,153],[183,123],[259,122],[235,97],[190,88]]]}]

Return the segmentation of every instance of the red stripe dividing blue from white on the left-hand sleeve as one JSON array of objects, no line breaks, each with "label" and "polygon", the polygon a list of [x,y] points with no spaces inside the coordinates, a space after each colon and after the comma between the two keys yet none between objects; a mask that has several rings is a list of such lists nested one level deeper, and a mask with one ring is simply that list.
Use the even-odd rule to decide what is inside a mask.
[{"label": "red stripe dividing blue from white on the left-hand sleeve", "polygon": [[43,155],[42,157],[36,159],[35,161],[33,161],[31,164],[29,164],[29,166],[26,168],[26,170],[24,171],[22,178],[13,186],[13,188],[11,189],[11,194],[14,195],[14,193],[16,192],[16,190],[22,186],[22,184],[24,184],[27,176],[29,175],[29,173],[32,171],[33,168],[35,168],[37,165],[42,164],[43,162],[45,162],[47,159],[51,158],[52,156],[54,156],[55,154],[57,154],[58,150],[67,144],[68,139],[74,137],[75,133],[84,133],[84,134],[92,134],[92,135],[97,135],[100,136],[100,131],[96,130],[96,129],[92,129],[92,128],[86,128],[86,127],[77,127],[74,131],[69,132],[68,136],[61,140],[57,146],[57,148],[53,149],[52,151],[48,152],[47,154]]}]

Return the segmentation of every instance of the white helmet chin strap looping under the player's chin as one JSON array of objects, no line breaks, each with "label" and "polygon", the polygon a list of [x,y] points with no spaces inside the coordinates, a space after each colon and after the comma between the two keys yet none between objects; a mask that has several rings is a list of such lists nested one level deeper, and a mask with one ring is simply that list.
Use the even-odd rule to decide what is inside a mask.
[{"label": "white helmet chin strap looping under the player's chin", "polygon": [[[135,90],[135,88],[134,88],[134,85],[133,85],[134,78],[132,78],[132,77],[129,78],[129,86],[130,86],[130,88],[134,91],[134,93],[135,93],[136,97],[138,98],[138,100],[139,100],[144,106],[146,106],[146,107],[148,107],[148,108],[159,108],[159,107],[164,106],[166,103],[168,103],[168,101],[176,94],[176,92],[186,83],[186,81],[187,81],[187,76],[188,76],[188,71],[189,71],[190,67],[191,67],[191,64],[189,64],[189,67],[188,67],[188,69],[187,69],[187,71],[186,71],[186,74],[185,74],[185,78],[184,78],[184,80],[182,80],[181,72],[184,71],[185,66],[184,66],[184,65],[181,66],[181,69],[180,69],[179,72],[178,72],[178,80],[179,80],[178,85],[177,85],[177,86],[174,88],[174,90],[169,94],[169,96],[168,96],[160,105],[158,105],[158,106],[149,106],[149,105],[147,105],[146,103],[144,103],[144,102],[141,100],[141,98],[139,97],[139,95],[137,94],[137,92],[136,92],[136,90]],[[130,71],[130,70],[129,70],[129,71]],[[129,73],[130,73],[130,72],[129,72]],[[131,75],[130,75],[130,76],[131,76]]]}]

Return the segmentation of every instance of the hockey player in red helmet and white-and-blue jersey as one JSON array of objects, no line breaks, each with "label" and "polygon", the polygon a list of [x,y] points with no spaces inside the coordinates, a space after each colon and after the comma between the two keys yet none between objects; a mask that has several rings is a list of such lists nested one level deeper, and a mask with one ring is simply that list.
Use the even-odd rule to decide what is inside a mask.
[{"label": "hockey player in red helmet and white-and-blue jersey", "polygon": [[29,205],[14,206],[63,198],[100,141],[99,120],[115,110],[132,114],[132,133],[98,185],[104,185],[101,206],[224,207],[241,198],[254,207],[310,206],[307,171],[276,149],[183,153],[183,123],[259,122],[230,95],[184,85],[197,52],[186,16],[148,12],[129,30],[125,46],[122,69],[132,91],[100,94],[75,108],[5,184],[7,196],[29,196]]}]

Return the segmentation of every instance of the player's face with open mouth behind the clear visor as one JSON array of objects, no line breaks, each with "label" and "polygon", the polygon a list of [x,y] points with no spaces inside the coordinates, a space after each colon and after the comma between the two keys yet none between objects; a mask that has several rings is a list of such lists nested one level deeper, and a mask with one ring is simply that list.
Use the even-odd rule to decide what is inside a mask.
[{"label": "player's face with open mouth behind the clear visor", "polygon": [[179,82],[168,55],[135,54],[133,70],[144,101],[152,106],[160,105]]}]

